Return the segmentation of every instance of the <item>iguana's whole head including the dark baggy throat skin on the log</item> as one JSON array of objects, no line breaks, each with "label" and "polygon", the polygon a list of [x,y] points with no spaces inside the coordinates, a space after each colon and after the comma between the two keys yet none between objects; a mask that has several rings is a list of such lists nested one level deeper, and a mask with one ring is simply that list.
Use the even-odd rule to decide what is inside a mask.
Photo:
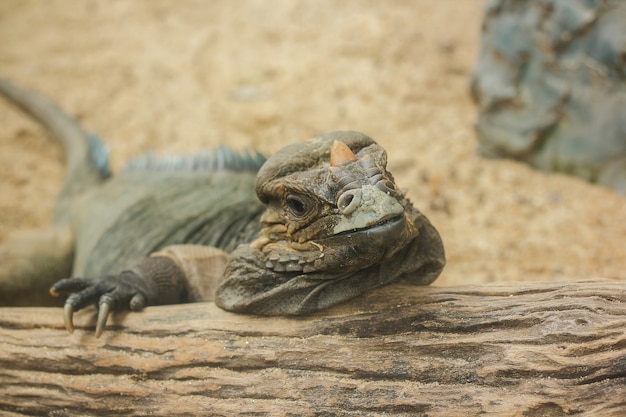
[{"label": "iguana's whole head including the dark baggy throat skin on the log", "polygon": [[429,284],[441,239],[399,191],[387,154],[357,132],[283,148],[259,170],[259,238],[232,254],[216,303],[255,314],[301,314],[397,279]]}]

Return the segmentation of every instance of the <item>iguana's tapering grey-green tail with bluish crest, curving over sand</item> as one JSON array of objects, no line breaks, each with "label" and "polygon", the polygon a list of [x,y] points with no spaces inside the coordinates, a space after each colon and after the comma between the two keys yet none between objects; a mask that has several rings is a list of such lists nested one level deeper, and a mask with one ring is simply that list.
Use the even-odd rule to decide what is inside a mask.
[{"label": "iguana's tapering grey-green tail with bluish crest, curving over sand", "polygon": [[68,198],[110,176],[106,149],[98,137],[85,132],[63,109],[42,94],[1,77],[0,94],[42,124],[65,151],[67,170],[57,201],[55,217],[58,219],[63,216],[63,203]]}]

